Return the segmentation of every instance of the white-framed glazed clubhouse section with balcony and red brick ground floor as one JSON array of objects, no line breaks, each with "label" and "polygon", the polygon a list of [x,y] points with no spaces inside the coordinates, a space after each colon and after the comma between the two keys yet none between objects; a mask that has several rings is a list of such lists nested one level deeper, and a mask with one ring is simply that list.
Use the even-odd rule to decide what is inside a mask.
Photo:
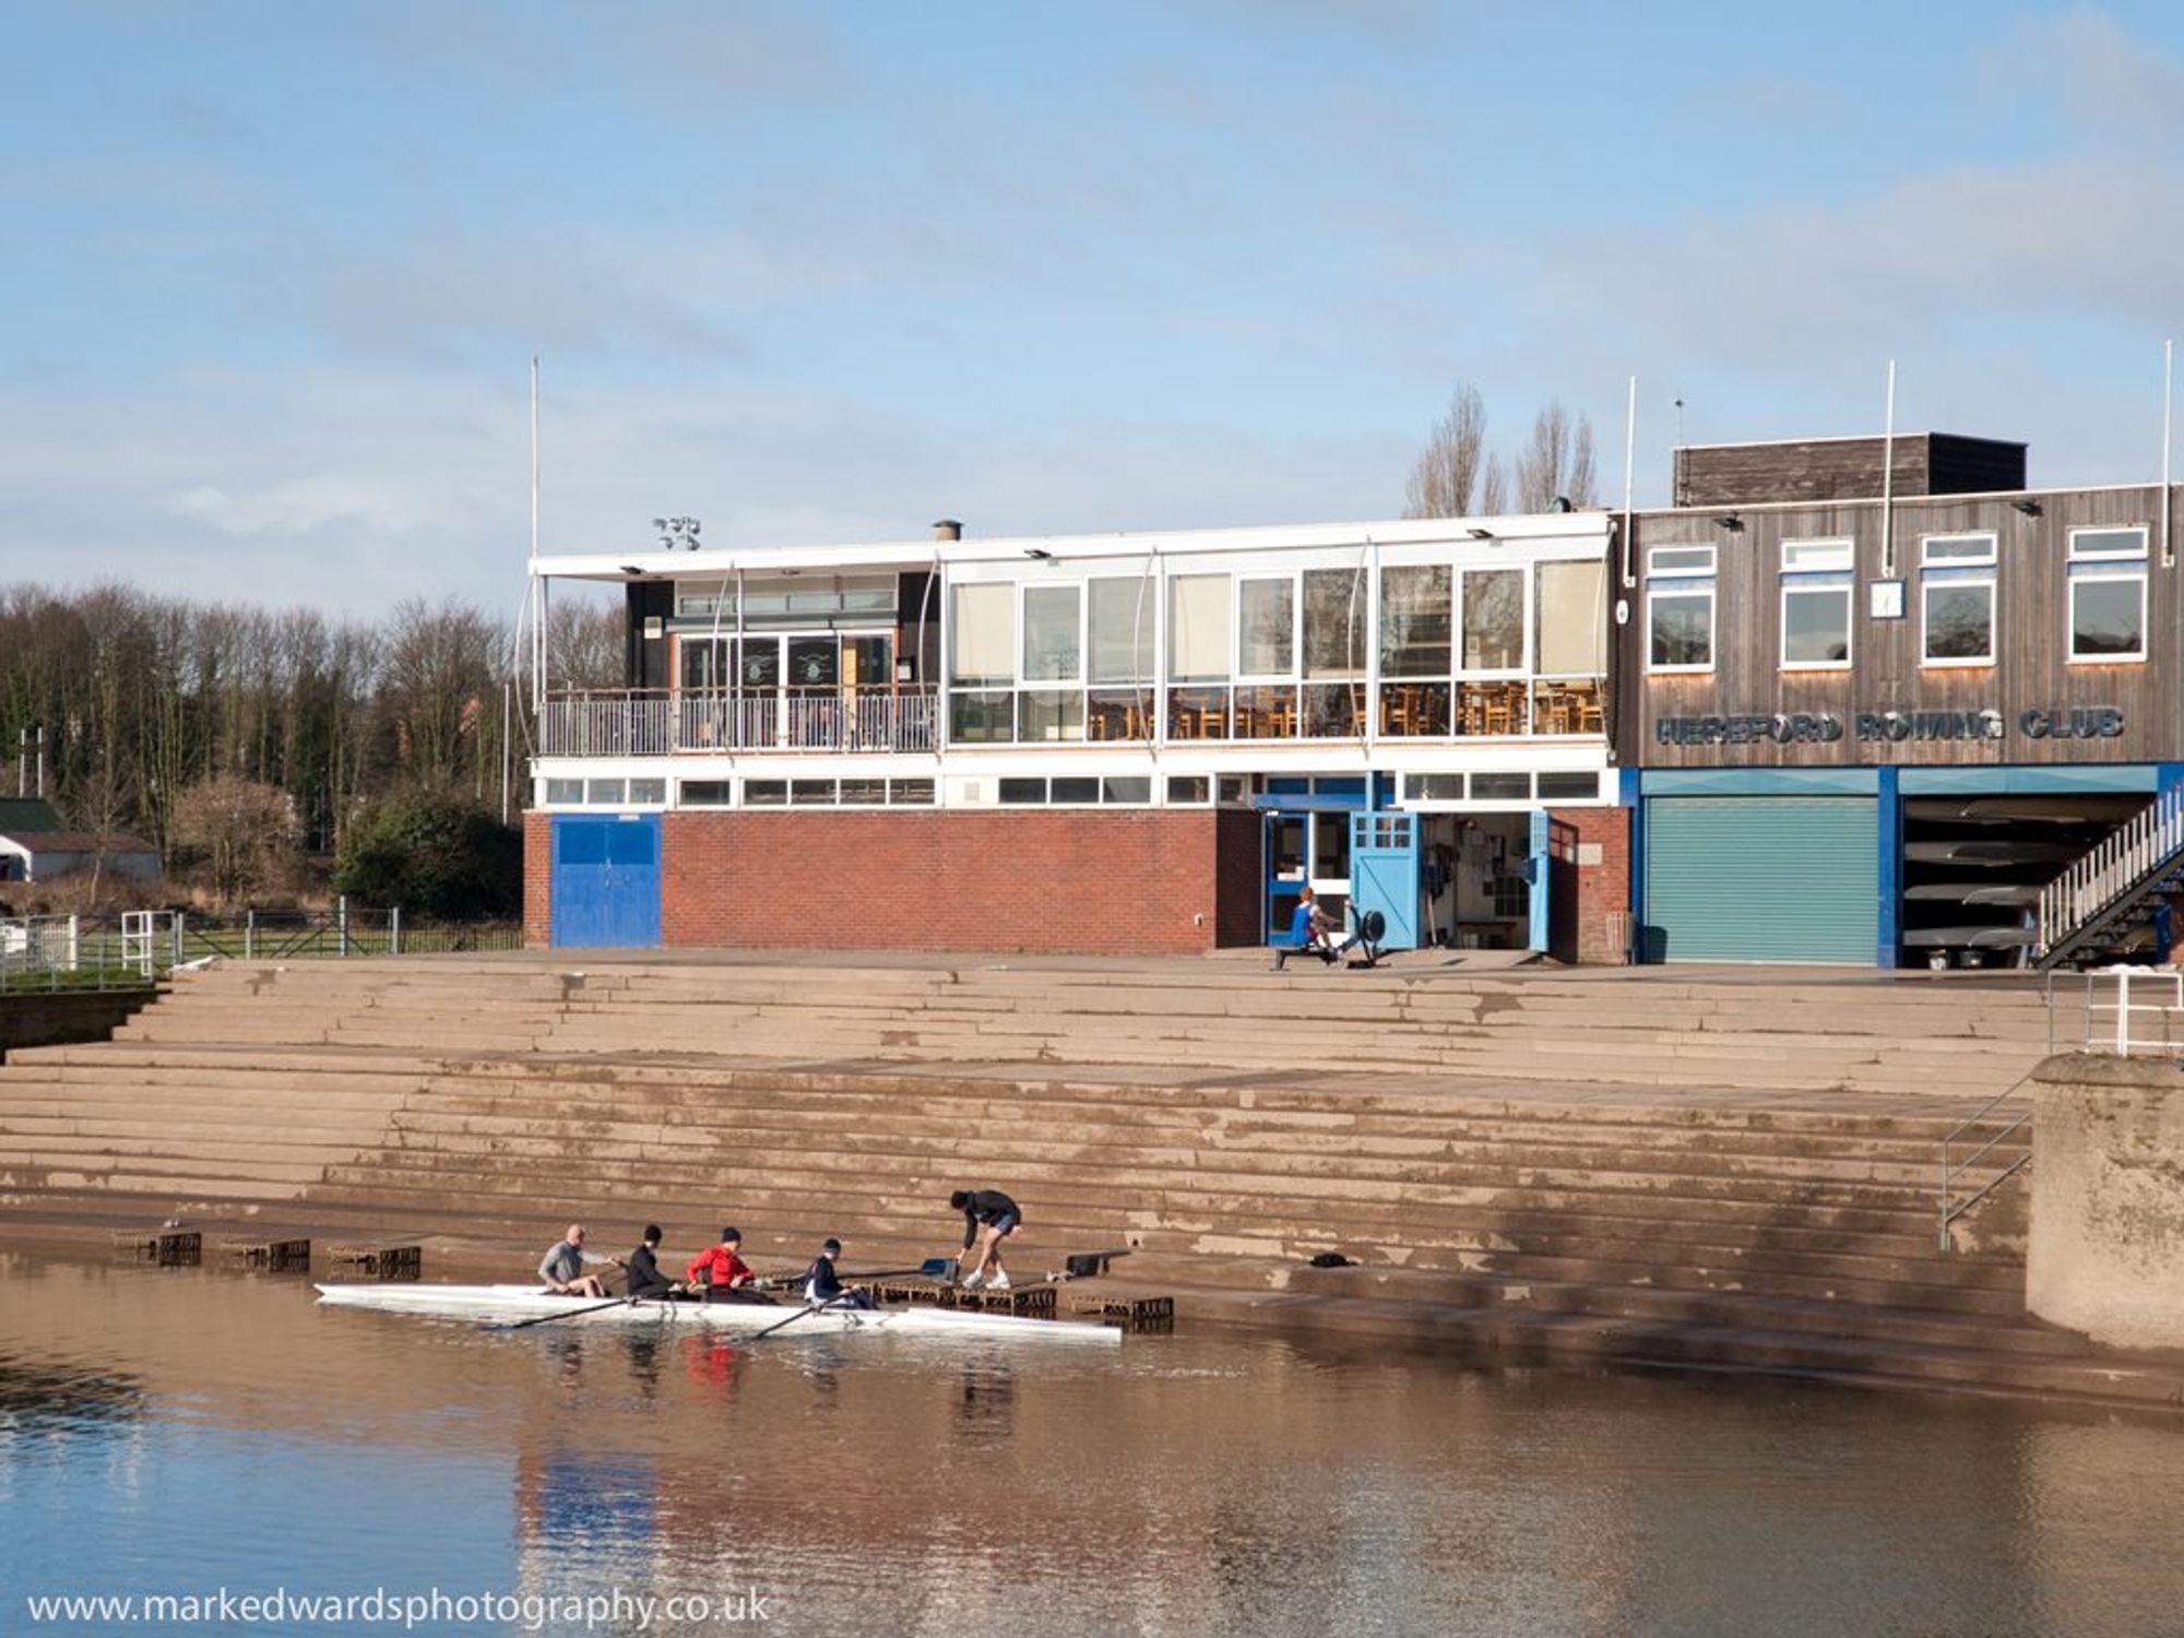
[{"label": "white-framed glazed clubhouse section with balcony and red brick ground floor", "polygon": [[[1299,889],[1389,943],[1614,959],[1612,522],[542,557],[627,686],[539,679],[559,946],[1195,952]],[[1612,882],[1610,882],[1612,878]]]}]

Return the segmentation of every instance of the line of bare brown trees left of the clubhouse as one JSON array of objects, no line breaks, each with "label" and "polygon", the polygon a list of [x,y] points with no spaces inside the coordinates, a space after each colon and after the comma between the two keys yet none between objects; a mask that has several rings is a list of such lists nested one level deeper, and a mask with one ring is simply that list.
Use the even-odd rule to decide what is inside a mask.
[{"label": "line of bare brown trees left of the clubhouse", "polygon": [[[46,795],[81,832],[188,847],[192,793],[229,782],[275,793],[297,845],[334,854],[397,793],[498,812],[509,738],[520,806],[529,727],[522,688],[505,714],[511,638],[461,601],[356,620],[127,585],[0,587],[0,747],[15,758],[24,729],[44,729]],[[557,603],[548,655],[557,681],[618,686],[620,607]],[[0,793],[15,788],[9,771]],[[238,815],[227,795],[199,806]],[[269,815],[262,795],[253,812]]]}]

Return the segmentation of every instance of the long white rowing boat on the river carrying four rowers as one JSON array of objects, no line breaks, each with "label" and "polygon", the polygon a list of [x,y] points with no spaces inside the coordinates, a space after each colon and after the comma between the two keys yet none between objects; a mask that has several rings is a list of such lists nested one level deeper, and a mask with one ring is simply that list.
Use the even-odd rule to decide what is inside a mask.
[{"label": "long white rowing boat on the river carrying four rowers", "polygon": [[[476,1319],[480,1324],[518,1324],[526,1319],[566,1319],[572,1326],[708,1326],[710,1330],[758,1332],[802,1313],[795,1304],[762,1302],[618,1302],[590,1304],[583,1297],[557,1297],[537,1286],[426,1286],[426,1284],[339,1284],[319,1286],[319,1302],[343,1308],[378,1308],[395,1315],[432,1319]],[[1026,1337],[1068,1343],[1118,1343],[1116,1326],[1075,1319],[1024,1319],[976,1308],[823,1308],[804,1315],[784,1332],[891,1332],[902,1337]]]}]

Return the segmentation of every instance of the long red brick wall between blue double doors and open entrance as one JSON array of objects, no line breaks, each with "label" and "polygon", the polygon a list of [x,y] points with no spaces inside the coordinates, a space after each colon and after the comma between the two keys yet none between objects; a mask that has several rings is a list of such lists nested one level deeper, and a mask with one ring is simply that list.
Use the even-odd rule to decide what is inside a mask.
[{"label": "long red brick wall between blue double doors and open entrance", "polygon": [[1256,815],[1212,808],[670,812],[662,937],[1197,954],[1258,939],[1245,869],[1256,891]]}]

